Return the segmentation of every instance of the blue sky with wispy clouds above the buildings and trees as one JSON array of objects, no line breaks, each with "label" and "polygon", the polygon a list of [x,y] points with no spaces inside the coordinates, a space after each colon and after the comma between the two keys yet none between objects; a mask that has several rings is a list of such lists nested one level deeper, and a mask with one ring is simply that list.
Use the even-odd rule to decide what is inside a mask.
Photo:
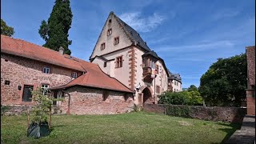
[{"label": "blue sky with wispy clouds above the buildings and trees", "polygon": [[[245,53],[255,45],[254,0],[129,0],[70,2],[71,55],[89,60],[110,11],[142,36],[167,68],[182,76],[182,87],[199,86],[217,58]],[[42,46],[38,34],[50,17],[54,0],[2,0],[1,18],[21,38]]]}]

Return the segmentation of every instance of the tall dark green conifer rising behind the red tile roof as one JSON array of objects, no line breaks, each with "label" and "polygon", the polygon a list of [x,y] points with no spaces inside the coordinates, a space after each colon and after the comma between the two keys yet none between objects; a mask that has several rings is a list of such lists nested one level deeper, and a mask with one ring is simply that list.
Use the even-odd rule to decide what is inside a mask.
[{"label": "tall dark green conifer rising behind the red tile roof", "polygon": [[56,51],[62,46],[65,54],[71,54],[68,46],[71,45],[72,41],[68,39],[68,31],[71,27],[72,17],[70,1],[56,0],[48,22],[43,20],[38,31],[46,41],[43,46]]}]

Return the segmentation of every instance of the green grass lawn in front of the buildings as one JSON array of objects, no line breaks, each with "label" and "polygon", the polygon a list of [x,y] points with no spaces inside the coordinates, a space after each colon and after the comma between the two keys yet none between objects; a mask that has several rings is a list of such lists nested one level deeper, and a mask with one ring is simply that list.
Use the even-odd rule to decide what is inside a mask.
[{"label": "green grass lawn in front of the buildings", "polygon": [[26,137],[26,116],[1,116],[4,143],[221,143],[238,125],[145,112],[54,115],[50,136]]}]

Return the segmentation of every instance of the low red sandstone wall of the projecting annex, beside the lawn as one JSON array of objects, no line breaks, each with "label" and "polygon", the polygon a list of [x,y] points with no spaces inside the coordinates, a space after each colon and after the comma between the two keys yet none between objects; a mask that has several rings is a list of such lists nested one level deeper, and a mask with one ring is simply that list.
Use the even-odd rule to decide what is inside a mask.
[{"label": "low red sandstone wall of the projecting annex, beside the lawn", "polygon": [[[103,101],[102,90],[74,86],[66,90],[70,94],[70,114],[119,114],[133,110],[134,102],[124,93],[110,91]],[[60,109],[66,114],[68,97],[62,102]]]}]

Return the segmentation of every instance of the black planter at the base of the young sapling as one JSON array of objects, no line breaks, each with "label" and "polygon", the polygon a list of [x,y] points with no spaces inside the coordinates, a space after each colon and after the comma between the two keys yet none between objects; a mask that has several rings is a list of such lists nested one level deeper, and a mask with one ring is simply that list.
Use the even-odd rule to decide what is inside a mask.
[{"label": "black planter at the base of the young sapling", "polygon": [[50,134],[48,122],[40,122],[30,124],[30,127],[27,129],[27,137],[41,138]]}]

